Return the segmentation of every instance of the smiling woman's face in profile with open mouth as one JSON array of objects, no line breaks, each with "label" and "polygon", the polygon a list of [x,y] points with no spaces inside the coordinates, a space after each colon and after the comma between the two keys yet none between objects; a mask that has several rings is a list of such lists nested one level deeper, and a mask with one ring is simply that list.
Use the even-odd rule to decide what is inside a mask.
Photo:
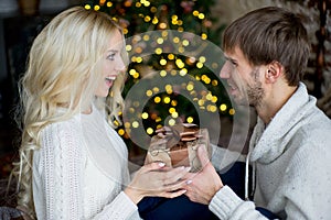
[{"label": "smiling woman's face in profile with open mouth", "polygon": [[107,97],[117,75],[125,70],[126,66],[120,52],[124,47],[124,38],[119,31],[109,40],[108,48],[102,61],[102,74],[104,75],[96,90],[97,97]]}]

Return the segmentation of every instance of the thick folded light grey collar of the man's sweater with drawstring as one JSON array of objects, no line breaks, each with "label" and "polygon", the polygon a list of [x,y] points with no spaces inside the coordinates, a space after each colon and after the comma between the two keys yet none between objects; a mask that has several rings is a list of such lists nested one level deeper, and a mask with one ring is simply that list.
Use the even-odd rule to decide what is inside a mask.
[{"label": "thick folded light grey collar of the man's sweater with drawstring", "polygon": [[260,163],[270,163],[282,154],[287,143],[300,127],[298,123],[316,106],[316,98],[307,92],[306,86],[300,82],[297,91],[276,113],[270,123],[265,127],[260,118],[250,139],[250,160]]}]

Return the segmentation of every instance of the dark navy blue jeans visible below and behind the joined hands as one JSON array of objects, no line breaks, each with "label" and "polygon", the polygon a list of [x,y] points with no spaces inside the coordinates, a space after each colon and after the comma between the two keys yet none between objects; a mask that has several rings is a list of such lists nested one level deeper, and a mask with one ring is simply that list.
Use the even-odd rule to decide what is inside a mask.
[{"label": "dark navy blue jeans visible below and behind the joined hands", "polygon": [[[224,185],[229,186],[238,197],[244,199],[245,163],[236,162],[226,173],[218,175]],[[277,218],[266,209],[257,208],[256,210],[269,219]],[[209,206],[193,202],[184,195],[173,199],[146,197],[138,204],[138,211],[140,217],[146,220],[217,219],[217,217],[210,211]]]}]

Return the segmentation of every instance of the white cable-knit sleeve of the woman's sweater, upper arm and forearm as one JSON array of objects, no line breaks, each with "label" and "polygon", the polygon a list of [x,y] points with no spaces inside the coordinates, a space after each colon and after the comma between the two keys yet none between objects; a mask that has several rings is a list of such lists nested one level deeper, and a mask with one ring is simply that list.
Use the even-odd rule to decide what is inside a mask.
[{"label": "white cable-knit sleeve of the woman's sweater, upper arm and forearm", "polygon": [[[46,127],[33,155],[33,197],[38,219],[85,219],[82,136],[68,122]],[[88,206],[88,205],[87,205]],[[137,206],[120,193],[93,219],[140,219]]]}]

